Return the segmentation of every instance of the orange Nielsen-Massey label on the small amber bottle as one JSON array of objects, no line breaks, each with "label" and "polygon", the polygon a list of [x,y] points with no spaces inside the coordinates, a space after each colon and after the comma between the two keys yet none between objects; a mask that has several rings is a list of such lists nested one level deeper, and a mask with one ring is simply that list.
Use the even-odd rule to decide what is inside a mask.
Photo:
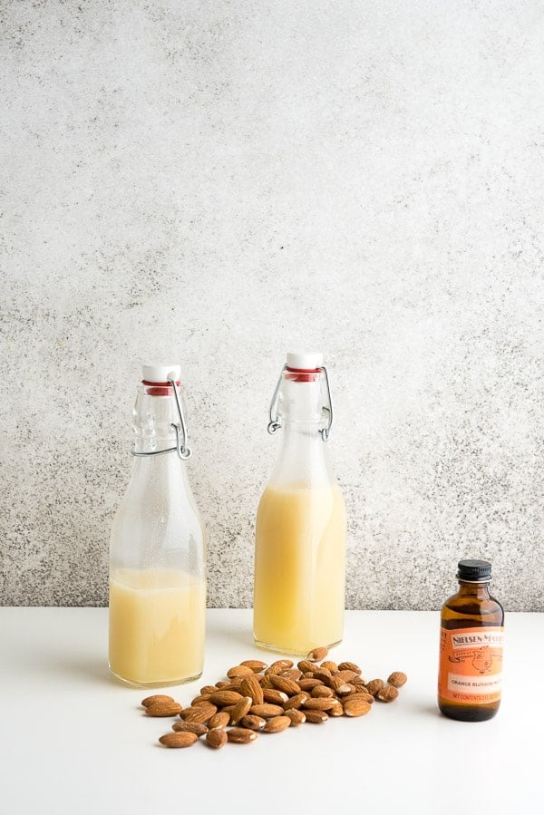
[{"label": "orange Nielsen-Massey label on the small amber bottle", "polygon": [[504,628],[441,628],[438,695],[448,702],[499,702]]}]

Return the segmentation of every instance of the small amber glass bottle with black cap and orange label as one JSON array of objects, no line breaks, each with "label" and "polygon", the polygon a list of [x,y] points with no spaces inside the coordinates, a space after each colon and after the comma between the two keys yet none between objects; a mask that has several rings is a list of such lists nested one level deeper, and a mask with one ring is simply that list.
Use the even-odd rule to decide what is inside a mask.
[{"label": "small amber glass bottle with black cap and orange label", "polygon": [[438,706],[451,719],[483,722],[500,705],[504,611],[490,595],[491,563],[458,568],[459,590],[442,606]]}]

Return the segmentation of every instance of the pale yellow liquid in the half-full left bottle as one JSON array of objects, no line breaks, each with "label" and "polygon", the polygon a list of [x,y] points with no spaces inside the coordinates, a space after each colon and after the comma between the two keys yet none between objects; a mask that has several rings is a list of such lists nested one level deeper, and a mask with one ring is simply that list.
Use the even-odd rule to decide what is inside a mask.
[{"label": "pale yellow liquid in the half-full left bottle", "polygon": [[174,569],[118,569],[110,577],[110,667],[135,685],[202,673],[206,584]]}]

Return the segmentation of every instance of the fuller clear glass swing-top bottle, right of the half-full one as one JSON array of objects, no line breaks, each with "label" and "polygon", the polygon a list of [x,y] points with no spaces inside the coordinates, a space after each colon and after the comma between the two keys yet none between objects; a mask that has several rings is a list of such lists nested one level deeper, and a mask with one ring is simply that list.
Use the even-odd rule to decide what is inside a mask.
[{"label": "fuller clear glass swing-top bottle, right of the half-full one", "polygon": [[342,640],[345,505],[327,456],[332,424],[321,354],[287,354],[268,432],[283,430],[259,501],[253,633],[257,645],[306,655]]}]

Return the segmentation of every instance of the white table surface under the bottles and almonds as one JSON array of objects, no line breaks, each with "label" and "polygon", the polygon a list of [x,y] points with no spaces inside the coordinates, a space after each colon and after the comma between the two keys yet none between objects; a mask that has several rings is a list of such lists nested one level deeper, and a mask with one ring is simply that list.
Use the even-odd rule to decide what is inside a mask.
[{"label": "white table surface under the bottles and almonds", "polygon": [[[109,674],[107,609],[0,608],[1,810],[543,811],[544,615],[507,612],[502,703],[483,723],[438,712],[438,625],[438,612],[346,612],[344,642],[330,658],[356,662],[367,678],[404,671],[395,703],[219,751],[201,743],[167,750],[157,739],[170,720],[144,716],[147,692]],[[170,694],[189,704],[250,657],[277,658],[253,645],[251,611],[210,609],[204,673]]]}]

